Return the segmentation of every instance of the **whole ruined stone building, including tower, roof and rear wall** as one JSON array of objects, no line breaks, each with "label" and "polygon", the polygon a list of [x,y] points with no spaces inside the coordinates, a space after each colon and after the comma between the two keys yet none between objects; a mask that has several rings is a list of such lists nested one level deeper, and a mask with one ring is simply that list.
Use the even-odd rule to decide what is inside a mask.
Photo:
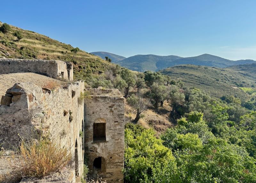
[{"label": "whole ruined stone building, including tower, roof and rear wall", "polygon": [[[52,81],[54,90],[42,88]],[[0,83],[2,151],[19,147],[21,138],[47,136],[70,150],[75,165],[49,180],[21,182],[80,182],[85,159],[90,177],[124,182],[124,98],[117,89],[85,89],[73,81],[72,64],[60,60],[0,59]],[[84,90],[90,99],[81,97]],[[0,182],[1,174],[11,177],[2,154]]]}]

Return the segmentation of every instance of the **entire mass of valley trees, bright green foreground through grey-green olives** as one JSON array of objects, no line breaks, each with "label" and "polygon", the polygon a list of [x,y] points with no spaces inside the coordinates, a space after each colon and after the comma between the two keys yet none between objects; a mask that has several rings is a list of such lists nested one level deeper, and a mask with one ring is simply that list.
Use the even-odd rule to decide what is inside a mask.
[{"label": "entire mass of valley trees, bright green foreground through grey-green olives", "polygon": [[244,100],[214,98],[160,73],[145,72],[144,80],[144,97],[156,111],[168,101],[177,126],[158,139],[152,129],[126,125],[126,182],[256,182],[256,112],[243,107]]}]

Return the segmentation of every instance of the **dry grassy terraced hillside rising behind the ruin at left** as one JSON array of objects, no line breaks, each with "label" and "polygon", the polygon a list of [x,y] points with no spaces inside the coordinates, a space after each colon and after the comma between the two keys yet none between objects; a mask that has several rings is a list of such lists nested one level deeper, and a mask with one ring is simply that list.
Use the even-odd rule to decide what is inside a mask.
[{"label": "dry grassy terraced hillside rising behind the ruin at left", "polygon": [[[2,23],[0,22],[0,26]],[[20,32],[22,39],[17,40],[13,33]],[[100,57],[82,50],[76,54],[70,44],[64,44],[33,31],[11,26],[11,31],[0,31],[0,58],[46,59],[72,61],[76,79],[98,74],[110,64]]]}]

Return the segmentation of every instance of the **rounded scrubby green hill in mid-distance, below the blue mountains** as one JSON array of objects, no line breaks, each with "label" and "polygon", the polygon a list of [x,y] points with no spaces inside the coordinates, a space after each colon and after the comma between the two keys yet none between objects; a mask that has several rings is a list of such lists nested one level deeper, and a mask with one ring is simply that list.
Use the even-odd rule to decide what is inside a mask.
[{"label": "rounded scrubby green hill in mid-distance, below the blue mountains", "polygon": [[180,65],[160,72],[174,80],[183,81],[185,86],[202,89],[214,97],[234,95],[246,98],[247,94],[238,87],[252,87],[256,81],[256,76],[244,75],[229,68]]}]

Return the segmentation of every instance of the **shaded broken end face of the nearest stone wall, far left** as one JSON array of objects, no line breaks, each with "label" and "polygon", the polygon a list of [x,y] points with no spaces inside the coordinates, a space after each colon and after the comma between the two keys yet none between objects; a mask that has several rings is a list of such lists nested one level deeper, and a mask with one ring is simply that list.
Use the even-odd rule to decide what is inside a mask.
[{"label": "shaded broken end face of the nearest stone wall, far left", "polygon": [[40,90],[34,87],[32,90],[21,89],[24,85],[16,85],[2,96],[0,106],[0,144],[6,148],[17,148],[20,136],[29,139],[34,133],[31,116],[29,115],[29,103],[32,101],[33,92]]}]

